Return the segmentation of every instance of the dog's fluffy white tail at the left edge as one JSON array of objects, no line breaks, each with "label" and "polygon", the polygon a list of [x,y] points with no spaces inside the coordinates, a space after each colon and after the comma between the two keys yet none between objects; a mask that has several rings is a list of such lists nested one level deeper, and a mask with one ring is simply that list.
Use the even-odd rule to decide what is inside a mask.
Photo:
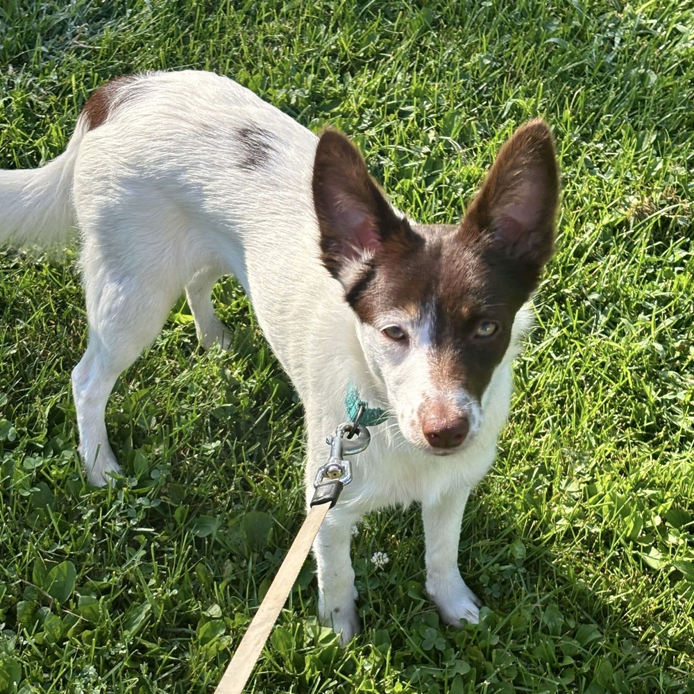
[{"label": "dog's fluffy white tail at the left edge", "polygon": [[75,160],[85,133],[78,120],[67,149],[39,169],[0,170],[0,244],[54,246],[74,229]]}]

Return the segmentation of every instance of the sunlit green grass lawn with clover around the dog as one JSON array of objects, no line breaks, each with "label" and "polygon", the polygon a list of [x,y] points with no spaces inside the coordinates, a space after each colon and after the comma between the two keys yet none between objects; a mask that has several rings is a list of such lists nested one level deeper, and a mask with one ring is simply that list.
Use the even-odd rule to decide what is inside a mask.
[{"label": "sunlit green grass lawn with clover around the dog", "polygon": [[[464,520],[482,623],[439,624],[417,509],[374,514],[364,633],[340,650],[316,627],[309,560],[248,691],[693,691],[694,3],[5,0],[0,166],[60,153],[108,78],[182,67],[344,129],[421,221],[455,219],[530,117],[563,171],[538,327]],[[0,255],[0,693],[212,692],[303,518],[301,409],[223,282],[232,350],[202,353],[179,303],[110,399],[124,479],[85,486],[75,258]]]}]

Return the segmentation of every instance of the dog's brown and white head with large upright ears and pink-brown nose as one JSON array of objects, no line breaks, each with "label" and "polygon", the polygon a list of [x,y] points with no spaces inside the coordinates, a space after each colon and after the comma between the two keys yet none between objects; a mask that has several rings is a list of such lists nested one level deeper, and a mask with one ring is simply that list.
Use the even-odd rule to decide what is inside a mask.
[{"label": "dog's brown and white head with large upright ears and pink-brown nose", "polygon": [[450,453],[480,429],[484,391],[552,255],[558,187],[550,131],[531,121],[502,147],[459,225],[416,225],[344,135],[321,135],[313,194],[323,264],[414,446]]}]

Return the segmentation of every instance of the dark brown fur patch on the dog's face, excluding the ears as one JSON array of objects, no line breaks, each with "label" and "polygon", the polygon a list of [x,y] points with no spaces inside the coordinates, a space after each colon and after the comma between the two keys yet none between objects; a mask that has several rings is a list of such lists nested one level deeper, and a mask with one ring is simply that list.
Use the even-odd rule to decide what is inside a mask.
[{"label": "dark brown fur patch on the dog's face, excluding the ears", "polygon": [[[429,323],[432,382],[441,391],[462,386],[479,400],[532,286],[514,260],[486,244],[461,242],[457,226],[415,226],[413,232],[422,239],[419,247],[384,242],[364,270],[370,280],[347,299],[364,323],[373,325],[393,307]],[[496,335],[475,337],[484,321],[500,325]]]}]

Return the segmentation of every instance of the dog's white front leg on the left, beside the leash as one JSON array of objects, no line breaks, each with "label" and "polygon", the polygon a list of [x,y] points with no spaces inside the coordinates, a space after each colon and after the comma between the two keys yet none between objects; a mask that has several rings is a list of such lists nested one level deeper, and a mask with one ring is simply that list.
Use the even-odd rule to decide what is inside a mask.
[{"label": "dog's white front leg on the left, beside the leash", "polygon": [[321,623],[349,643],[362,630],[357,616],[354,570],[350,559],[352,526],[359,516],[339,505],[326,516],[313,543],[318,565],[318,611]]}]

